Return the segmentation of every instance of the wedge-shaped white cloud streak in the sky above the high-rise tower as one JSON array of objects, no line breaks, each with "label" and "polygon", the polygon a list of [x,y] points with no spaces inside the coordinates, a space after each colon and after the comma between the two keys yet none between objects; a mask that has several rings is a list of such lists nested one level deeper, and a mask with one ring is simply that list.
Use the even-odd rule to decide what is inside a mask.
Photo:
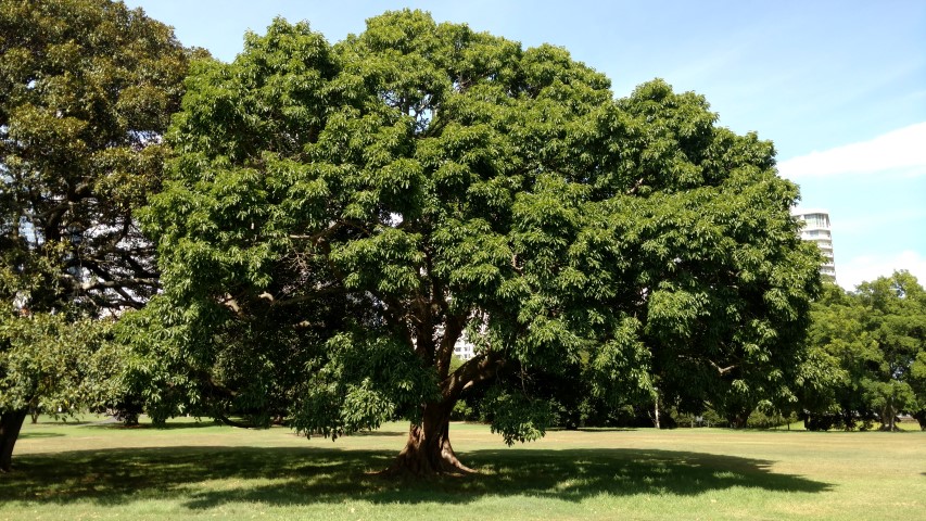
[{"label": "wedge-shaped white cloud streak in the sky above the high-rise tower", "polygon": [[926,175],[926,122],[878,136],[870,141],[812,152],[778,164],[789,179],[845,174],[900,173]]}]

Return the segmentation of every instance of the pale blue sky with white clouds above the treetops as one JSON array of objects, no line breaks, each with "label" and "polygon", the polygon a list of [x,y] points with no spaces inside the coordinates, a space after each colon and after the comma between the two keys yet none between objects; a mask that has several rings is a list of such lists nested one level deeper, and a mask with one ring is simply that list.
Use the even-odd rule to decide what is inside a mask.
[{"label": "pale blue sky with white clouds above the treetops", "polygon": [[908,269],[926,284],[926,2],[128,0],[186,46],[231,61],[281,15],[329,42],[417,8],[524,47],[548,42],[611,78],[703,94],[720,125],[775,142],[802,206],[833,221],[837,281]]}]

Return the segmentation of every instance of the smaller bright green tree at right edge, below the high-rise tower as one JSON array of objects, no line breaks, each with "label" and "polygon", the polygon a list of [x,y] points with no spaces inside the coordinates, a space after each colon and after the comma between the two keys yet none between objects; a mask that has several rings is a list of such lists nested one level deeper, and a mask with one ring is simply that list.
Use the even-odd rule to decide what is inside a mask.
[{"label": "smaller bright green tree at right edge, below the high-rise tower", "polygon": [[926,295],[915,277],[897,271],[853,292],[832,284],[812,317],[811,352],[835,366],[836,378],[804,394],[811,424],[825,425],[820,418],[836,410],[847,429],[877,418],[881,429],[896,430],[901,411],[919,414]]}]

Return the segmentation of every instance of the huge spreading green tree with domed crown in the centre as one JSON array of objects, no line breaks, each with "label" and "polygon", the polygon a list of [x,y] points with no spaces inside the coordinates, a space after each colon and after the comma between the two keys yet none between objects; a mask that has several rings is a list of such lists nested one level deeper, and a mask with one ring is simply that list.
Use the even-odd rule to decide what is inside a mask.
[{"label": "huge spreading green tree with domed crown in the centre", "polygon": [[772,145],[700,96],[614,100],[561,48],[417,11],[334,46],[277,20],[187,87],[143,217],[164,295],[136,345],[185,368],[155,399],[272,399],[331,436],[408,418],[393,470],[431,473],[466,469],[448,419],[475,386],[506,442],[543,434],[534,367],[616,403],[789,392],[819,258]]}]

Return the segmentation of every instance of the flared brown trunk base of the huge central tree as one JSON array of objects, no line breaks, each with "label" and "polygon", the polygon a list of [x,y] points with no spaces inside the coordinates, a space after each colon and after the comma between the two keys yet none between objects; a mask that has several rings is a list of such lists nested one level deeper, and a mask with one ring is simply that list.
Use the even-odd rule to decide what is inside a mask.
[{"label": "flared brown trunk base of the huge central tree", "polygon": [[408,430],[408,443],[383,474],[428,476],[473,472],[457,459],[454,447],[451,446],[453,406],[454,401],[426,404],[421,424],[411,424]]}]

